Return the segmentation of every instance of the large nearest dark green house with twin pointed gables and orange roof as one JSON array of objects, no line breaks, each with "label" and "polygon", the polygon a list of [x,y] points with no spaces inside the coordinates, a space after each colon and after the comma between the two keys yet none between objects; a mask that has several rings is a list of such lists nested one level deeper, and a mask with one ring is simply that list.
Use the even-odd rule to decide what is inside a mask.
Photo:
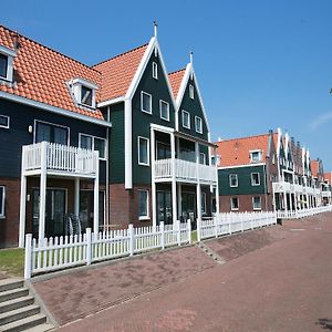
[{"label": "large nearest dark green house with twin pointed gables and orange roof", "polygon": [[0,142],[1,247],[201,218],[218,201],[193,55],[168,74],[156,27],[87,66],[1,25]]}]

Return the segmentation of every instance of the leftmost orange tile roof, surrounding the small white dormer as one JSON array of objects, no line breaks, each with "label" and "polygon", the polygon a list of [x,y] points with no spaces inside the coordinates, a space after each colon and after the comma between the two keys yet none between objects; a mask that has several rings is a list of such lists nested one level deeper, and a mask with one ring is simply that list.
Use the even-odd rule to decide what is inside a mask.
[{"label": "leftmost orange tile roof, surrounding the small white dormer", "polygon": [[[0,84],[0,91],[103,118],[98,110],[76,106],[66,85],[70,80],[80,77],[100,86],[102,77],[98,71],[0,25],[0,45],[13,50],[15,35],[20,43],[13,62],[15,84]],[[96,100],[100,100],[100,91],[96,92]]]}]

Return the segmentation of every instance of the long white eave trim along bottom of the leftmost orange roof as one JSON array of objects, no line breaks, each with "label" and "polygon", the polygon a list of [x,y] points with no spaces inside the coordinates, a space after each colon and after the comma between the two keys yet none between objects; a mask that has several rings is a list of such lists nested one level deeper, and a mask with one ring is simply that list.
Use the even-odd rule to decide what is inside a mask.
[{"label": "long white eave trim along bottom of the leftmost orange roof", "polygon": [[33,100],[28,100],[25,97],[18,96],[15,94],[11,94],[11,93],[8,93],[8,92],[0,91],[0,98],[10,100],[12,102],[25,104],[25,105],[29,105],[29,106],[32,106],[32,107],[37,107],[37,108],[41,108],[41,110],[49,111],[49,112],[52,112],[52,113],[56,113],[59,115],[64,115],[64,116],[82,120],[82,121],[85,121],[85,122],[98,124],[98,125],[102,125],[102,126],[112,127],[112,124],[110,122],[104,121],[104,120],[98,120],[98,118],[95,118],[95,117],[92,117],[92,116],[87,116],[87,115],[76,113],[74,111],[68,111],[68,110],[64,110],[64,108],[60,108],[60,107],[48,105],[48,104],[44,104],[44,103],[41,103],[41,102],[37,102],[37,101],[33,101]]}]

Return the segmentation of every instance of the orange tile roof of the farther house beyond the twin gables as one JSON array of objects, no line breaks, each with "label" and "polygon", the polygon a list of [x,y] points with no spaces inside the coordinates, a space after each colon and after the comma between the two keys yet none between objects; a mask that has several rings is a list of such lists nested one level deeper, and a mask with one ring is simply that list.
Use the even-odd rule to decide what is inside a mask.
[{"label": "orange tile roof of the farther house beyond the twin gables", "polygon": [[269,149],[269,134],[227,139],[216,143],[221,157],[219,167],[230,167],[252,164],[250,151],[262,151],[262,163]]}]

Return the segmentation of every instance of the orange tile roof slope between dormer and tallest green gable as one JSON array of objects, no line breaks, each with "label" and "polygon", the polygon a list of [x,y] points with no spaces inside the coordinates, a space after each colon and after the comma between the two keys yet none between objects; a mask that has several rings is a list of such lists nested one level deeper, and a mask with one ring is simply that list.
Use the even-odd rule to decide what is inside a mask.
[{"label": "orange tile roof slope between dormer and tallest green gable", "polygon": [[103,75],[101,101],[124,96],[134,79],[147,44],[93,65]]}]

